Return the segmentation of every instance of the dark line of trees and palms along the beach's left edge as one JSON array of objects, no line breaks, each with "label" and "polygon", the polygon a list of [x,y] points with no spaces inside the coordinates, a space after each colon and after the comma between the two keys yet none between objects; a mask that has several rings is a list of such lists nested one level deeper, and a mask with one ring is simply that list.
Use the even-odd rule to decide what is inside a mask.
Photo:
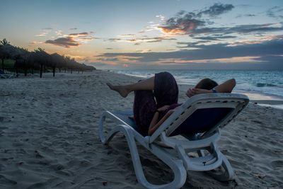
[{"label": "dark line of trees and palms along the beach's left edge", "polygon": [[1,69],[4,71],[4,59],[14,59],[15,64],[13,70],[18,74],[19,70],[24,70],[25,76],[28,70],[34,73],[35,70],[40,71],[40,77],[42,77],[42,71],[46,69],[52,69],[53,76],[55,76],[56,69],[59,72],[64,71],[92,71],[95,67],[87,66],[76,62],[74,58],[59,55],[57,53],[48,54],[45,50],[38,48],[33,52],[29,52],[27,49],[21,47],[15,47],[10,45],[6,40],[0,40],[0,58]]}]

